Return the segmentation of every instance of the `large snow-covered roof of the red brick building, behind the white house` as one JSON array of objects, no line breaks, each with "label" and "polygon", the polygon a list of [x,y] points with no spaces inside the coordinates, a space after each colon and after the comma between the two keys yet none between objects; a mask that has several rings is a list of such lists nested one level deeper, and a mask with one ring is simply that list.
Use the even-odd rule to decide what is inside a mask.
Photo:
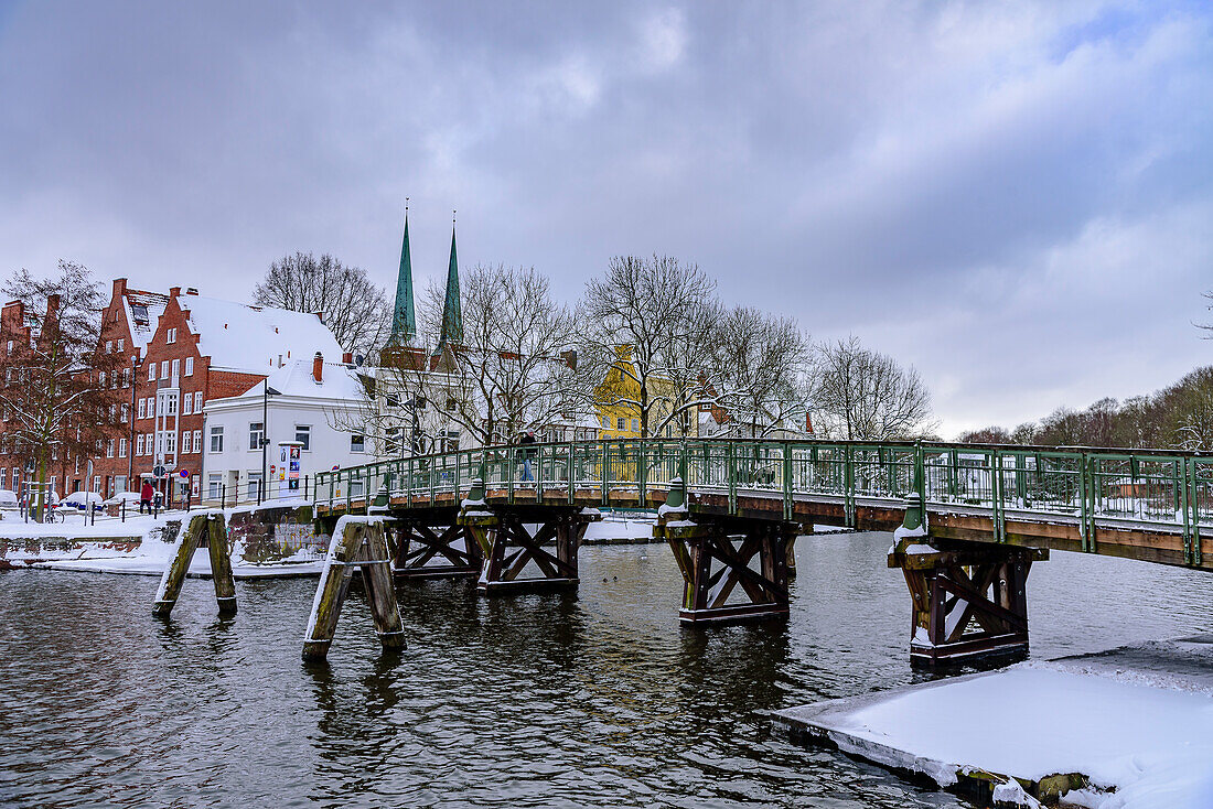
[{"label": "large snow-covered roof of the red brick building, behind the white house", "polygon": [[198,352],[213,370],[269,374],[296,359],[311,368],[317,352],[341,359],[341,346],[314,314],[199,295],[178,296],[177,304],[189,313],[189,330],[201,336]]}]

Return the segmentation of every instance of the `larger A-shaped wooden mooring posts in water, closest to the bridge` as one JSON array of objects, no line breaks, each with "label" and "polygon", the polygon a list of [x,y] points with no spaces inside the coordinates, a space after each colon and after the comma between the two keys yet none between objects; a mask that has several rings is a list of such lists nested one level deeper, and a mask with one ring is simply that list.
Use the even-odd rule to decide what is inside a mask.
[{"label": "larger A-shaped wooden mooring posts in water, closest to the bridge", "polygon": [[332,645],[337,616],[354,569],[360,569],[375,632],[385,649],[404,646],[400,609],[392,586],[392,559],[383,536],[382,517],[342,517],[334,529],[329,556],[312,602],[303,640],[303,660],[324,660]]}]

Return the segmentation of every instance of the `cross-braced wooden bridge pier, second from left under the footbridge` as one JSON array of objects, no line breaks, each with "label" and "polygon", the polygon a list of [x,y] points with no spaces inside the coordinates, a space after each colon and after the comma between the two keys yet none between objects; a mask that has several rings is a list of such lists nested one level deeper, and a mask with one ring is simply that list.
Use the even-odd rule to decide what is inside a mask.
[{"label": "cross-braced wooden bridge pier, second from left under the footbridge", "polygon": [[[482,593],[575,586],[577,548],[590,523],[602,519],[593,509],[542,507],[465,511],[460,525],[475,537],[484,556],[477,588]],[[526,524],[537,524],[531,534]],[[534,563],[533,572],[526,568]]]}]

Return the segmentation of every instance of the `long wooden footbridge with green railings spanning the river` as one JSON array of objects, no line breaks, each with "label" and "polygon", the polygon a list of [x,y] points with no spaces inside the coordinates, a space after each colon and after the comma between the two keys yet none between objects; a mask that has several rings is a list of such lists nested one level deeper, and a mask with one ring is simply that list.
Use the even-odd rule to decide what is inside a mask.
[{"label": "long wooden footbridge with green railings spanning the river", "polygon": [[575,586],[604,507],[657,509],[693,625],[786,616],[792,543],[814,525],[894,531],[888,565],[905,575],[911,661],[926,665],[1025,651],[1027,575],[1050,551],[1213,570],[1213,456],[1200,454],[731,439],[528,449],[535,480],[503,446],[318,475],[315,515],[334,539],[304,656],[328,653],[355,569],[385,646],[402,642],[392,579]]}]

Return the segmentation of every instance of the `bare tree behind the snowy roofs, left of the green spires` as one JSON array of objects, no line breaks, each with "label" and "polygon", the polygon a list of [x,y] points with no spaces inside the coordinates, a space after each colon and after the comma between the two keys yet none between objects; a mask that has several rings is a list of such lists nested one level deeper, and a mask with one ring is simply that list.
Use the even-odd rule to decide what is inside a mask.
[{"label": "bare tree behind the snowy roofs, left of the green spires", "polygon": [[269,266],[254,300],[295,312],[324,315],[343,351],[371,357],[392,331],[392,307],[383,289],[360,267],[346,267],[329,253],[297,252]]}]

